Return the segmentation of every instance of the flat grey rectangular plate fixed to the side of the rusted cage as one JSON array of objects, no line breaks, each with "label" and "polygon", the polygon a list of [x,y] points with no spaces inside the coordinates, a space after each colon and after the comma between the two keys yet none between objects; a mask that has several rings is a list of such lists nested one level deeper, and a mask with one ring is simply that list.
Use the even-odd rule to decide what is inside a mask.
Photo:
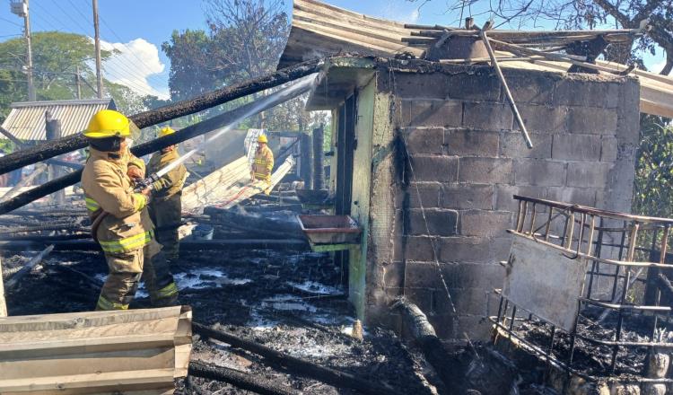
[{"label": "flat grey rectangular plate fixed to the side of the rusted cage", "polygon": [[512,303],[572,332],[588,269],[585,258],[514,235],[503,285]]}]

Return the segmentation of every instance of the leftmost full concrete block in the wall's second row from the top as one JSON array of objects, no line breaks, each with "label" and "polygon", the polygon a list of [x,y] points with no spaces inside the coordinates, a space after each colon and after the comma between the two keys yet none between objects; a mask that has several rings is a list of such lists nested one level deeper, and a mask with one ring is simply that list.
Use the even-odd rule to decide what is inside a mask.
[{"label": "leftmost full concrete block in the wall's second row from the top", "polygon": [[463,102],[452,100],[402,101],[405,127],[459,127]]}]

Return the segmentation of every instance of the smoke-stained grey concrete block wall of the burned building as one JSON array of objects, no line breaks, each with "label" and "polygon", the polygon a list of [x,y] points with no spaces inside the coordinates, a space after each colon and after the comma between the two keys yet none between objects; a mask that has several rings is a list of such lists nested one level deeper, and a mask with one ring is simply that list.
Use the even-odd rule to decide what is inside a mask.
[{"label": "smoke-stained grey concrete block wall of the burned building", "polygon": [[372,197],[392,197],[372,198],[372,218],[391,216],[393,225],[369,243],[367,319],[400,329],[387,305],[406,294],[441,337],[486,338],[485,316],[497,310],[491,291],[504,275],[498,262],[511,245],[512,195],[630,210],[639,83],[505,70],[529,150],[489,67],[408,68],[377,81],[394,103],[393,155],[407,164],[394,166],[392,185],[372,185]]}]

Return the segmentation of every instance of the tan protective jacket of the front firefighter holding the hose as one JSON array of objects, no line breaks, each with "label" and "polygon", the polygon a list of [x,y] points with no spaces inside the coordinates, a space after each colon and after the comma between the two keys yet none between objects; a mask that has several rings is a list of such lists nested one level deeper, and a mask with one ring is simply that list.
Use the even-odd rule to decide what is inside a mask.
[{"label": "tan protective jacket of the front firefighter holding the hose", "polygon": [[144,171],[144,162],[128,150],[121,155],[89,150],[82,173],[86,208],[92,221],[109,213],[96,233],[101,249],[111,254],[142,249],[153,238],[153,225],[143,209],[147,198],[133,191],[127,171],[129,166]]}]

